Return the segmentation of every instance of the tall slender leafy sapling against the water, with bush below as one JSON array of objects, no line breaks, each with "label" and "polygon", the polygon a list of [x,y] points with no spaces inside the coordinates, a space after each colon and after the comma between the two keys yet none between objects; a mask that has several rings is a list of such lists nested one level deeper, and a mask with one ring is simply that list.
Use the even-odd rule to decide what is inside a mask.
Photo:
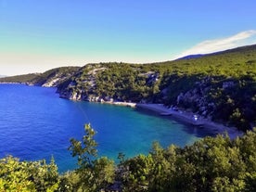
[{"label": "tall slender leafy sapling against the water, with bush below", "polygon": [[[73,157],[78,158],[79,168],[73,175],[80,178],[75,183],[75,190],[99,191],[109,186],[114,179],[114,162],[107,157],[96,159],[96,131],[90,124],[84,125],[83,141],[70,139],[69,150]],[[70,187],[69,187],[70,188]]]}]

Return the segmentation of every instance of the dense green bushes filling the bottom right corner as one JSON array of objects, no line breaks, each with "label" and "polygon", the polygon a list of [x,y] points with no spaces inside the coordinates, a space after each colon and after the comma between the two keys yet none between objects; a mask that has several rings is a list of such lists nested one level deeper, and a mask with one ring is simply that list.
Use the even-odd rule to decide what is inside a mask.
[{"label": "dense green bushes filling the bottom right corner", "polygon": [[255,191],[256,132],[230,140],[206,137],[194,145],[126,160],[124,191]]}]

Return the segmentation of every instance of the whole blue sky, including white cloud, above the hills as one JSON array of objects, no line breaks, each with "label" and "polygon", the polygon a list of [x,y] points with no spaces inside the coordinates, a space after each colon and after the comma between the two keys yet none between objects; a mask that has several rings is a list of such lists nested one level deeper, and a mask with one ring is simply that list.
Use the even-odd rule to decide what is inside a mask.
[{"label": "whole blue sky, including white cloud, above the hills", "polygon": [[255,0],[0,0],[0,75],[256,44]]}]

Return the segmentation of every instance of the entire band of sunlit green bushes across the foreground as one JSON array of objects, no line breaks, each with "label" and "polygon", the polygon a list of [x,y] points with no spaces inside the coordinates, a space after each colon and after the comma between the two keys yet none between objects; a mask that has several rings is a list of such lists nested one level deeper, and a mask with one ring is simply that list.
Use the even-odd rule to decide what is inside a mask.
[{"label": "entire band of sunlit green bushes across the foreground", "polygon": [[0,191],[255,191],[256,130],[230,140],[205,137],[192,146],[162,148],[154,143],[148,155],[120,163],[96,157],[96,131],[84,126],[81,141],[70,139],[78,168],[58,174],[52,159],[0,160]]}]

